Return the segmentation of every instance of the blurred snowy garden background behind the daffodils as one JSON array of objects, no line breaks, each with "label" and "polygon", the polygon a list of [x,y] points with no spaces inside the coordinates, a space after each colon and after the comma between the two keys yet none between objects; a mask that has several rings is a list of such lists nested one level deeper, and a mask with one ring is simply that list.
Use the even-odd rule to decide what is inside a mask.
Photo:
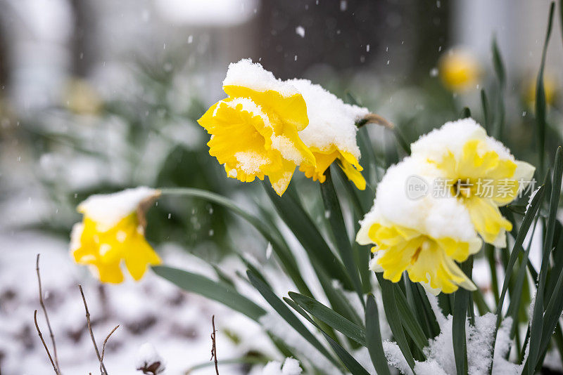
[{"label": "blurred snowy garden background behind the daffodils", "polygon": [[[145,341],[167,354],[167,374],[206,362],[212,313],[222,313],[224,358],[274,353],[257,329],[246,329],[251,323],[241,325],[243,318],[153,275],[139,284],[99,286],[68,256],[70,228],[80,221],[77,203],[138,185],[259,200],[256,183],[224,176],[196,124],[224,97],[229,62],[241,58],[281,79],[308,78],[357,100],[396,124],[407,141],[457,119],[466,106],[482,120],[481,89],[490,98],[502,91],[503,140],[519,159],[536,162],[530,124],[549,4],[0,0],[0,373],[49,371],[32,325],[38,252],[67,373],[96,371],[78,283],[90,296],[100,337],[122,324],[106,360],[119,374],[135,373],[135,353]],[[545,68],[554,144],[563,134],[561,30],[556,17]],[[493,38],[507,73],[504,86],[493,69]],[[382,157],[397,157],[392,136],[373,128],[369,137]],[[236,274],[233,247],[258,237],[201,201],[162,199],[148,222],[147,237],[167,263],[214,277],[221,277],[217,264]],[[266,243],[244,243],[249,256],[269,266]],[[236,364],[222,374],[248,371],[250,365]]]}]

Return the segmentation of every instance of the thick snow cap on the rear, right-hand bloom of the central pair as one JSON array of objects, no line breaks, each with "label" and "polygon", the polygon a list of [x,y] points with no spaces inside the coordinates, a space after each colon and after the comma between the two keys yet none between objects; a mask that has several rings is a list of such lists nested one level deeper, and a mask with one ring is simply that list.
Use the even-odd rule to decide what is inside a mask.
[{"label": "thick snow cap on the rear, right-hand bloom of the central pair", "polygon": [[290,79],[286,82],[295,86],[307,103],[309,125],[299,132],[305,145],[317,147],[321,151],[336,145],[339,150],[350,152],[359,159],[355,121],[369,113],[367,108],[346,104],[308,79]]}]

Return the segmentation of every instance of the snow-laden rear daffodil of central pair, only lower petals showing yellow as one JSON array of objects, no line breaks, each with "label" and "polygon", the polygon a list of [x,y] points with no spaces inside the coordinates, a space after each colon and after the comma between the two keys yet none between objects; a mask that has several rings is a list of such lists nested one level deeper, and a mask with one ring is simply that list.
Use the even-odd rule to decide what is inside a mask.
[{"label": "snow-laden rear daffodil of central pair, only lower petals showing yellow", "polygon": [[288,81],[295,86],[305,98],[309,126],[299,132],[299,136],[315,155],[316,165],[304,162],[299,170],[312,180],[324,183],[324,172],[335,160],[346,173],[346,176],[360,190],[365,189],[365,178],[362,176],[360,148],[356,143],[358,128],[355,121],[365,117],[366,108],[343,103],[333,94],[307,79]]}]

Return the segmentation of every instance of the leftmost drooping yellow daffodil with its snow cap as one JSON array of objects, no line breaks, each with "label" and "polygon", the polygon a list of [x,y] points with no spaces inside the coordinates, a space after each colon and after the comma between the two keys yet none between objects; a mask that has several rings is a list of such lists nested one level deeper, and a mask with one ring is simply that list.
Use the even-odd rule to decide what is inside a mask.
[{"label": "leftmost drooping yellow daffodil with its snow cap", "polygon": [[161,263],[144,237],[145,212],[159,195],[158,190],[137,187],[82,202],[77,211],[83,221],[71,234],[75,261],[91,265],[101,282],[122,282],[122,263],[135,280],[141,279],[148,265]]}]

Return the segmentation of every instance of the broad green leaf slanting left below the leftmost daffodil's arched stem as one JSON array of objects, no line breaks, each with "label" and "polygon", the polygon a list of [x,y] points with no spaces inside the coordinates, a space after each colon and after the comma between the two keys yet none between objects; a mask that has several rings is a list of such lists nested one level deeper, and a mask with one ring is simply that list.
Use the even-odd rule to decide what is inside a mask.
[{"label": "broad green leaf slanting left below the leftmost daffodil's arched stem", "polygon": [[220,302],[256,322],[266,313],[260,306],[256,305],[245,296],[242,296],[236,289],[227,284],[215,282],[205,276],[167,267],[165,265],[153,266],[153,271],[156,275],[167,279],[186,291],[191,291]]}]

